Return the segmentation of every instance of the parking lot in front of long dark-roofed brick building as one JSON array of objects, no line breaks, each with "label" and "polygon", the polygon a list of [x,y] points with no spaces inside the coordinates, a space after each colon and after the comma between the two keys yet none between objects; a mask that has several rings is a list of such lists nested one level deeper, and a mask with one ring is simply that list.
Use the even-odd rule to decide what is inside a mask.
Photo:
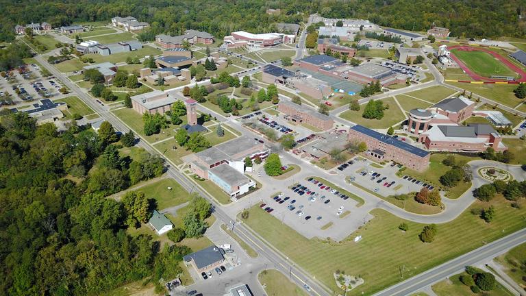
[{"label": "parking lot in front of long dark-roofed brick building", "polygon": [[429,190],[434,189],[434,184],[427,184],[408,176],[397,176],[399,169],[401,169],[401,165],[394,162],[380,168],[365,158],[363,160],[354,158],[336,168],[338,173],[349,177],[351,183],[360,184],[360,186],[383,196],[418,192],[423,186]]}]

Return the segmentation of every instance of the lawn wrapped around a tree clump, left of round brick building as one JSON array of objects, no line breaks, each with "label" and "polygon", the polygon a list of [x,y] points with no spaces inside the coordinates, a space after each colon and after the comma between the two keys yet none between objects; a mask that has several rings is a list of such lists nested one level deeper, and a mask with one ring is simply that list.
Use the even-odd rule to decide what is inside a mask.
[{"label": "lawn wrapped around a tree clump, left of round brick building", "polygon": [[384,110],[384,118],[381,120],[364,119],[362,114],[364,113],[365,105],[360,106],[360,111],[347,110],[340,114],[340,117],[342,119],[347,119],[353,123],[358,123],[373,129],[388,128],[399,123],[400,121],[403,121],[406,118],[405,114],[403,114],[402,110],[400,110],[392,97],[388,97],[382,101],[384,101],[384,106],[389,106],[389,109]]}]

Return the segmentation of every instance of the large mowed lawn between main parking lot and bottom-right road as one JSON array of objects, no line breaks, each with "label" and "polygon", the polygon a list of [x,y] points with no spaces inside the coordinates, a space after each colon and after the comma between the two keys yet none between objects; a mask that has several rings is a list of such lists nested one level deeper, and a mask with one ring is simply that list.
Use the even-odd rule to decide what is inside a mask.
[{"label": "large mowed lawn between main parking lot and bottom-right road", "polygon": [[[524,199],[519,203],[526,204]],[[470,212],[471,208],[488,208],[490,205],[498,213],[490,224]],[[347,295],[362,295],[362,292],[370,295],[526,225],[523,217],[526,209],[512,208],[501,196],[488,203],[475,201],[471,208],[454,221],[437,225],[438,234],[429,244],[418,239],[423,224],[405,221],[379,209],[371,212],[375,219],[342,243],[327,243],[316,238],[309,240],[258,206],[249,210],[245,224],[333,291],[339,290],[332,274],[340,269],[365,280]],[[397,228],[402,222],[409,225],[405,233]],[[358,235],[362,240],[354,243],[352,239]],[[399,271],[402,266],[406,270],[403,278]]]}]

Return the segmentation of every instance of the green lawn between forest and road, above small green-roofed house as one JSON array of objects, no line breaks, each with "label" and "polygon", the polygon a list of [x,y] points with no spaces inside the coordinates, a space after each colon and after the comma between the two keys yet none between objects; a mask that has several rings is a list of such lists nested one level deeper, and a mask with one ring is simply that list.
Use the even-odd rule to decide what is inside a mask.
[{"label": "green lawn between forest and road, above small green-roofed house", "polygon": [[[168,190],[168,187],[172,189]],[[172,178],[166,178],[148,184],[147,186],[138,188],[136,191],[145,193],[148,199],[155,199],[158,210],[178,206],[179,204],[184,204],[186,201],[190,201],[188,191],[184,190],[184,188]]]}]

